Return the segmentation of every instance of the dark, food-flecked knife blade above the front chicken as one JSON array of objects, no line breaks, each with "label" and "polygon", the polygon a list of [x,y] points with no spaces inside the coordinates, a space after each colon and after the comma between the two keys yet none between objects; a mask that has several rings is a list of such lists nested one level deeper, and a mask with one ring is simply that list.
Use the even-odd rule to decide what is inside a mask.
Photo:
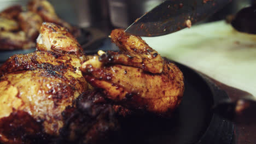
[{"label": "dark, food-flecked knife blade above the front chicken", "polygon": [[126,32],[156,37],[190,27],[223,8],[231,0],[168,0],[136,20]]}]

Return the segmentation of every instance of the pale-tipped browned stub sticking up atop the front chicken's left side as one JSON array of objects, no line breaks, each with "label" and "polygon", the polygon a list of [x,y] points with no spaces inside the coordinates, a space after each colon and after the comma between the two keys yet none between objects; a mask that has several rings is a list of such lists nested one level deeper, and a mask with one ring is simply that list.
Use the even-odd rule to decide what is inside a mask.
[{"label": "pale-tipped browned stub sticking up atop the front chicken's left side", "polygon": [[44,22],[37,38],[37,50],[74,53],[84,56],[83,49],[66,28]]}]

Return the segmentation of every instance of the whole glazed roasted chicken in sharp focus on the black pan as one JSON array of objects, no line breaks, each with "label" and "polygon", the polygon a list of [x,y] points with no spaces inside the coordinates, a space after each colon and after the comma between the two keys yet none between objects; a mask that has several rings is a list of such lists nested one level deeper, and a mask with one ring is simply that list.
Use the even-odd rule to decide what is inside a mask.
[{"label": "whole glazed roasted chicken in sharp focus on the black pan", "polygon": [[120,117],[170,117],[181,70],[123,29],[110,37],[120,52],[85,56],[66,28],[43,23],[37,51],[0,67],[0,142],[98,143],[121,129]]}]

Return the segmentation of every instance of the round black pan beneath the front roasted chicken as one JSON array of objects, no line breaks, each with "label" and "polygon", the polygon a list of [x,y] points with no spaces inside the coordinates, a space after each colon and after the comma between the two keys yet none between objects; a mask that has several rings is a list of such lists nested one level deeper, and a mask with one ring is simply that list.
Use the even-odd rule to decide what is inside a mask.
[{"label": "round black pan beneath the front roasted chicken", "polygon": [[[95,47],[95,46],[98,47]],[[86,49],[87,48],[87,49]],[[85,48],[85,53],[117,50],[110,39],[102,39]],[[234,124],[212,112],[218,101],[229,99],[214,83],[196,71],[178,64],[185,78],[185,92],[171,119],[148,117],[126,118],[119,136],[110,143],[225,143],[232,142]]]}]

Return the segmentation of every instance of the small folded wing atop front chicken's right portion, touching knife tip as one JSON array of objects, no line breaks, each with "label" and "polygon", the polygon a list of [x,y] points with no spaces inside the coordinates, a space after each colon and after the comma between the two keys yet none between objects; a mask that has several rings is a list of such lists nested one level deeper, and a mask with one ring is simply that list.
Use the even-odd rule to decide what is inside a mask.
[{"label": "small folded wing atop front chicken's right portion, touching knife tip", "polygon": [[130,65],[150,73],[162,72],[162,57],[140,37],[127,34],[123,29],[115,29],[110,38],[121,52],[108,51],[100,57],[101,62]]}]

